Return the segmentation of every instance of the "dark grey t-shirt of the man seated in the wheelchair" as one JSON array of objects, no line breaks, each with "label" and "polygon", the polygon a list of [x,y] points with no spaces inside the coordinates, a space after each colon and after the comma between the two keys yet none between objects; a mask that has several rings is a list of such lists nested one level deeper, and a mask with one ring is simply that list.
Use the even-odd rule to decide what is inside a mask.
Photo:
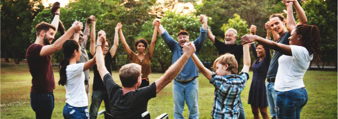
[{"label": "dark grey t-shirt of the man seated in the wheelchair", "polygon": [[140,118],[141,114],[147,111],[148,101],[156,97],[155,82],[122,95],[122,87],[114,82],[110,74],[104,75],[103,81],[107,87],[111,114],[114,118]]}]

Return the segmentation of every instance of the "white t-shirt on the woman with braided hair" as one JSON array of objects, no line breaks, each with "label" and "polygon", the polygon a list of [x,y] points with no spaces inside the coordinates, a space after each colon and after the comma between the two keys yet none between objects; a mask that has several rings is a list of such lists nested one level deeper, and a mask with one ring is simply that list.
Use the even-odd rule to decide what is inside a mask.
[{"label": "white t-shirt on the woman with braided hair", "polygon": [[290,45],[292,56],[282,55],[278,59],[278,71],[274,84],[276,91],[290,91],[305,87],[303,77],[309,68],[313,54],[302,46]]}]

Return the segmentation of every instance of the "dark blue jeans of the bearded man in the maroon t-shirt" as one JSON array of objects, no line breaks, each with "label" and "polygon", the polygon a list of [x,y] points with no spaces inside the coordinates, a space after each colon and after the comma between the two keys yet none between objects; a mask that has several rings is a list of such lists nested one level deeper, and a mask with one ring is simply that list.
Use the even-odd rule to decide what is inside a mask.
[{"label": "dark blue jeans of the bearded man in the maroon t-shirt", "polygon": [[37,119],[50,119],[54,109],[53,91],[44,94],[30,93],[30,106]]}]

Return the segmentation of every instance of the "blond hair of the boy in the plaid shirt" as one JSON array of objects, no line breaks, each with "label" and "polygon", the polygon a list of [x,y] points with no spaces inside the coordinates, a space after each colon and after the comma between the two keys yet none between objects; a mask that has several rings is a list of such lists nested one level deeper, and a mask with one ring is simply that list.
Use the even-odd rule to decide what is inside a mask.
[{"label": "blond hair of the boy in the plaid shirt", "polygon": [[224,55],[219,56],[215,61],[213,68],[216,69],[216,64],[220,63],[222,65],[228,64],[228,68],[226,70],[231,71],[232,74],[237,74],[238,64],[235,56],[230,53],[225,53]]}]

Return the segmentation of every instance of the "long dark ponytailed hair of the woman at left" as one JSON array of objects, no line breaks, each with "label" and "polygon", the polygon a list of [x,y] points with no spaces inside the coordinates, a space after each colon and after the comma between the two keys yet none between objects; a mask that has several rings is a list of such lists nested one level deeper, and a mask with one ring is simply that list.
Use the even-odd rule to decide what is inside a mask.
[{"label": "long dark ponytailed hair of the woman at left", "polygon": [[79,50],[79,43],[75,40],[67,40],[62,45],[62,52],[64,53],[64,58],[62,58],[61,63],[59,65],[60,71],[60,80],[59,85],[64,86],[67,82],[66,68],[69,65],[69,59],[73,56],[74,50]]}]

